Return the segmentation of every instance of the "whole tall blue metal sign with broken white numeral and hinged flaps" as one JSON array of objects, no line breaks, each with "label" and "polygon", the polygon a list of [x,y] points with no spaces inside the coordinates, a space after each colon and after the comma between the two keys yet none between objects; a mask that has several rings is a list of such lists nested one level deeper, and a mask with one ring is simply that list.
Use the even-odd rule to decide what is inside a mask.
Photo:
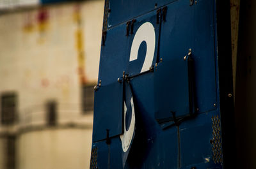
[{"label": "whole tall blue metal sign with broken white numeral and hinged flaps", "polygon": [[223,168],[216,8],[106,1],[91,168]]}]

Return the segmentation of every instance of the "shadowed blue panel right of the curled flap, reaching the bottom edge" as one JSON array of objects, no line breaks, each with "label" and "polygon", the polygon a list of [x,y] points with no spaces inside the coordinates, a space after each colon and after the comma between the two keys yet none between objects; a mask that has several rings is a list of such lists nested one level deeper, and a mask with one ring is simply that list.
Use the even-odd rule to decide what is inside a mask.
[{"label": "shadowed blue panel right of the curled flap, reaching the bottom edge", "polygon": [[163,131],[154,116],[154,73],[131,80],[136,103],[136,136],[127,168],[177,168],[177,128]]}]

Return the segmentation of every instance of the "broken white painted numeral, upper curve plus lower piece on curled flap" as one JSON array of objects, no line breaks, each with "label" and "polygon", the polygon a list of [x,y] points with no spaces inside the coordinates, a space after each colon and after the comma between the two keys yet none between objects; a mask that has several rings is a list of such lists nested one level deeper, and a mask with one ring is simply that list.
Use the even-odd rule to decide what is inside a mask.
[{"label": "broken white painted numeral, upper curve plus lower piece on curled flap", "polygon": [[[145,41],[147,44],[147,52],[146,52],[145,60],[143,62],[143,66],[141,68],[140,73],[149,70],[154,60],[154,53],[155,53],[155,47],[156,47],[156,33],[155,33],[154,26],[150,22],[145,22],[144,24],[142,24],[139,27],[136,34],[134,35],[134,39],[132,41],[130,59],[129,59],[130,62],[138,59],[139,48],[143,41]],[[120,139],[122,142],[122,149],[124,152],[127,152],[127,150],[131,145],[132,136],[134,134],[134,128],[135,128],[135,113],[134,113],[134,103],[132,98],[131,98],[131,107],[132,107],[131,124],[129,129],[126,130],[125,115],[127,112],[127,107],[124,103],[124,134],[120,135]]]}]

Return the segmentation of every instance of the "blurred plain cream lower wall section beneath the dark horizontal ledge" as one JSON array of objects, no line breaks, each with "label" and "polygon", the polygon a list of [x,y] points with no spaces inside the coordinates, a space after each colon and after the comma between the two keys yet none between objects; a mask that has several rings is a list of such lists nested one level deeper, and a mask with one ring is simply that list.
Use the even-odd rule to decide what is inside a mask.
[{"label": "blurred plain cream lower wall section beneath the dark horizontal ledge", "polygon": [[90,168],[91,129],[47,129],[19,136],[19,168]]}]

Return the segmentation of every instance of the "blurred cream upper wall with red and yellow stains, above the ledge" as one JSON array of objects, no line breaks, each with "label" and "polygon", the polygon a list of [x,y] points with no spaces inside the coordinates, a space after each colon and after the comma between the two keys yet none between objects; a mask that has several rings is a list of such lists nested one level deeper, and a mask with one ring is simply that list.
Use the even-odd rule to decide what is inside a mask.
[{"label": "blurred cream upper wall with red and yellow stains, above the ledge", "polygon": [[0,93],[18,92],[21,119],[26,113],[40,114],[49,99],[57,100],[66,114],[80,113],[77,29],[83,36],[86,82],[97,81],[104,2],[79,5],[81,26],[76,8],[77,4],[49,6],[43,21],[38,20],[40,9],[0,16]]}]

